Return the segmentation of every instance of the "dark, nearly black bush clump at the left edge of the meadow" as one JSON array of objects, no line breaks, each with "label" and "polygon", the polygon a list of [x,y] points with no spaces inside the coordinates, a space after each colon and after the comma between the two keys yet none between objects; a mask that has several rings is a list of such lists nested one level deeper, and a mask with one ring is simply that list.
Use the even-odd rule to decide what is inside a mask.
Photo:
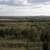
[{"label": "dark, nearly black bush clump at the left edge of the meadow", "polygon": [[5,29],[0,29],[0,37],[5,37],[5,36],[12,36],[16,34],[16,30],[13,28],[5,28]]}]

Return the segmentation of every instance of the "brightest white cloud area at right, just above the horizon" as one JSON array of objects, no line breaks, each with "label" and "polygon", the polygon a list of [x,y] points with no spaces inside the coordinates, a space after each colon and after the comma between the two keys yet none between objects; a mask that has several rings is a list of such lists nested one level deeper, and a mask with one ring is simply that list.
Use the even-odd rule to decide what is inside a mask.
[{"label": "brightest white cloud area at right, just above the horizon", "polygon": [[[39,7],[39,8],[37,8]],[[45,2],[45,4],[36,5],[35,9],[32,8],[33,15],[44,15],[50,16],[50,2]]]}]

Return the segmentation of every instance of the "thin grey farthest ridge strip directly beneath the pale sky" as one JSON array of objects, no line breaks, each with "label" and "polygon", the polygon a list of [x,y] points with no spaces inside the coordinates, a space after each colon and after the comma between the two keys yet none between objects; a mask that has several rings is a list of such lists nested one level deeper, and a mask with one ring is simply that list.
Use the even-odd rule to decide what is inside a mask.
[{"label": "thin grey farthest ridge strip directly beneath the pale sky", "polygon": [[50,18],[50,16],[0,16],[0,19],[18,19],[18,18]]}]

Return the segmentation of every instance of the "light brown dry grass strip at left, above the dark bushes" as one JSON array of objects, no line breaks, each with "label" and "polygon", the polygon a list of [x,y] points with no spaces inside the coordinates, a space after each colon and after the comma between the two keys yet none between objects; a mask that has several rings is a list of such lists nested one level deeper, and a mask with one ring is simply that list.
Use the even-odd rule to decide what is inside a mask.
[{"label": "light brown dry grass strip at left, above the dark bushes", "polygon": [[[24,29],[30,29],[31,22],[1,22],[0,23],[0,29],[1,28],[11,28],[14,27],[16,29],[24,30]],[[3,25],[3,26],[2,26]]]}]

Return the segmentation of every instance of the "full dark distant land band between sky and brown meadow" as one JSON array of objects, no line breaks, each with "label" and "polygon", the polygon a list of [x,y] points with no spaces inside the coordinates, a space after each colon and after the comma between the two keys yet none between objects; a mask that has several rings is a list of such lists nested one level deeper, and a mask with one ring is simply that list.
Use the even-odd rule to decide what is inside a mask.
[{"label": "full dark distant land band between sky and brown meadow", "polygon": [[50,21],[50,16],[0,16],[0,21]]}]

